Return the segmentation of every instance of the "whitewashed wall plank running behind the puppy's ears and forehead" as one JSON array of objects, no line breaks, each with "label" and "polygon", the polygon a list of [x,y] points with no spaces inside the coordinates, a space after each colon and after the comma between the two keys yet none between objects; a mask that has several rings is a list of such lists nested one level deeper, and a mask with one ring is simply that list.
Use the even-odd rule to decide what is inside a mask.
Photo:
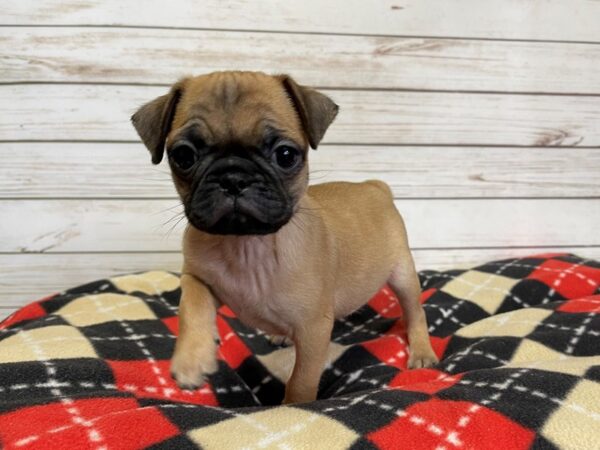
[{"label": "whitewashed wall plank running behind the puppy's ears and forehead", "polygon": [[[131,140],[130,115],[165,87],[0,86],[0,140]],[[600,96],[328,91],[324,142],[600,146]]]}]

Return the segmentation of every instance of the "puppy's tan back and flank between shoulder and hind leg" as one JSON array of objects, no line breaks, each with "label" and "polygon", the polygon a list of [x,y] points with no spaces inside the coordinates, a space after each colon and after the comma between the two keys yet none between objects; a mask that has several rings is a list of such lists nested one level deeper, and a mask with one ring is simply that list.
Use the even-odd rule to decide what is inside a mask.
[{"label": "puppy's tan back and flank between shoulder and hind leg", "polygon": [[335,237],[335,315],[362,306],[409,255],[402,217],[381,181],[324,183],[309,196]]}]

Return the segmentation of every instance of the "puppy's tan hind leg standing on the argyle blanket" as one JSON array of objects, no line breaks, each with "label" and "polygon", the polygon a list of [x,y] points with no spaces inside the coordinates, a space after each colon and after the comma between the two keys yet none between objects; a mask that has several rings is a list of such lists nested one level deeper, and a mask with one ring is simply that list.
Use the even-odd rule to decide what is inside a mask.
[{"label": "puppy's tan hind leg standing on the argyle blanket", "polygon": [[410,252],[405,250],[404,253],[392,271],[388,284],[400,300],[404,312],[410,345],[408,368],[430,367],[438,362],[438,358],[431,348],[425,311],[419,301],[421,286],[415,264]]}]

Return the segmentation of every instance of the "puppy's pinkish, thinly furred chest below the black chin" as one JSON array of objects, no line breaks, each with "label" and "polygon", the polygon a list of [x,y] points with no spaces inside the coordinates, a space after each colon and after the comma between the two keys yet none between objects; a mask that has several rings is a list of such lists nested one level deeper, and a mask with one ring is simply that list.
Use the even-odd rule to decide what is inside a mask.
[{"label": "puppy's pinkish, thinly furred chest below the black chin", "polygon": [[[285,299],[276,289],[282,267],[260,237],[234,240],[195,259],[197,275],[247,325],[269,333],[285,327]],[[276,328],[276,329],[275,329]]]}]

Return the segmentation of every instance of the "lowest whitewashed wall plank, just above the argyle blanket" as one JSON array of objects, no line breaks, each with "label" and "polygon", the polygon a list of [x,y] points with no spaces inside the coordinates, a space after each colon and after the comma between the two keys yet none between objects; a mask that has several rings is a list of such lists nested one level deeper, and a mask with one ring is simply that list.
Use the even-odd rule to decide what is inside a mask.
[{"label": "lowest whitewashed wall plank, just above the argyle blanket", "polygon": [[[422,249],[414,250],[413,255],[419,270],[448,270],[496,259],[554,252],[600,258],[600,247]],[[179,272],[181,260],[178,252],[0,255],[0,316],[34,300],[100,278],[144,270]]]}]

